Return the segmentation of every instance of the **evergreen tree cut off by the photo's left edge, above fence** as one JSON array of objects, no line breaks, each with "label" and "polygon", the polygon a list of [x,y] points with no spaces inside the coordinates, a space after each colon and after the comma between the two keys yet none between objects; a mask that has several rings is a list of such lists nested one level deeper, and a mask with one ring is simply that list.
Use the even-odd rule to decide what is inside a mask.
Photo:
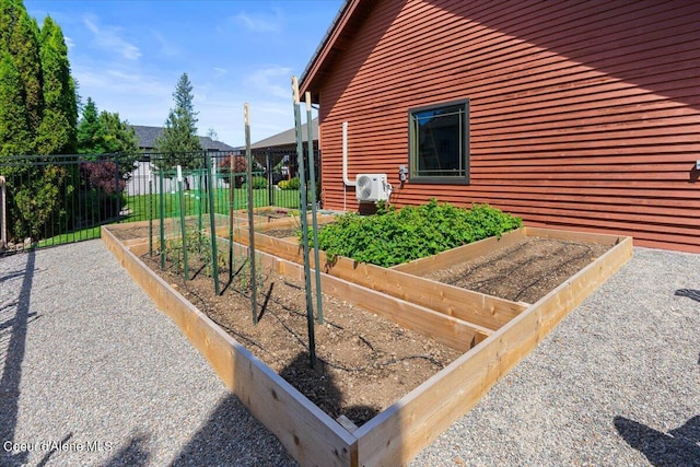
[{"label": "evergreen tree cut off by the photo's left edge, above fence", "polygon": [[0,155],[30,153],[32,138],[22,98],[22,79],[7,51],[0,58]]}]

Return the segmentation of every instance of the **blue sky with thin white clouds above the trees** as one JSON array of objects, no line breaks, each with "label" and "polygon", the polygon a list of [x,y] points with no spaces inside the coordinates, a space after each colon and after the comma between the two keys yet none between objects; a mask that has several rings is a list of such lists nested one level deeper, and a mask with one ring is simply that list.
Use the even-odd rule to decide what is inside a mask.
[{"label": "blue sky with thin white clouds above the trees", "polygon": [[183,72],[194,85],[198,132],[245,143],[294,126],[291,77],[303,73],[342,0],[31,1],[39,25],[63,31],[83,102],[132,125],[163,126]]}]

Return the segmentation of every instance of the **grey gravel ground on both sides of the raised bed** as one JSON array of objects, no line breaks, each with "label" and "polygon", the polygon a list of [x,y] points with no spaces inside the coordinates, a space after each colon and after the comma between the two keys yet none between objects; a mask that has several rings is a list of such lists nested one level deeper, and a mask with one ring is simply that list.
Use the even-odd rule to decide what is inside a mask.
[{"label": "grey gravel ground on both sides of the raised bed", "polygon": [[[0,287],[0,441],[97,448],[0,465],[294,465],[100,241]],[[700,255],[635,248],[411,466],[700,466],[699,352]]]}]

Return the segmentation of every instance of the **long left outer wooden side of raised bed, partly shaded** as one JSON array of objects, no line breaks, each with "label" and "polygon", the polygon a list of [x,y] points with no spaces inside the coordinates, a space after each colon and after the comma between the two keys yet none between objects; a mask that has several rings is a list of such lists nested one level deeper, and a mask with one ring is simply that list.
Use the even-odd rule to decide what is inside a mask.
[{"label": "long left outer wooden side of raised bed, partly shaded", "polygon": [[357,439],[149,270],[103,227],[103,241],[207,358],[222,382],[301,465],[357,465]]}]

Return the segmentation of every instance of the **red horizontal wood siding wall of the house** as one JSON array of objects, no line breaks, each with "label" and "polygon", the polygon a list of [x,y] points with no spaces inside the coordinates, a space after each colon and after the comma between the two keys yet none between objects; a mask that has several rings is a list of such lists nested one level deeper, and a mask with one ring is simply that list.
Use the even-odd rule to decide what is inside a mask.
[{"label": "red horizontal wood siding wall of the house", "polygon": [[[324,207],[348,172],[396,206],[489,202],[527,225],[700,252],[700,8],[691,1],[374,2],[324,63]],[[408,109],[470,100],[470,184],[398,183]]]}]

